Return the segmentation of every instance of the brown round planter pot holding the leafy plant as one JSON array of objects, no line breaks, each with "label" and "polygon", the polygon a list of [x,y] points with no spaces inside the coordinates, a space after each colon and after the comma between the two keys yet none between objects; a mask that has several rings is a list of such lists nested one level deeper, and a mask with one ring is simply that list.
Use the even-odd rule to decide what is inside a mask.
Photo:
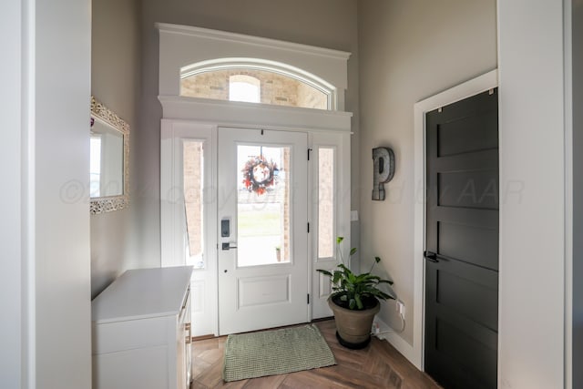
[{"label": "brown round planter pot holding the leafy plant", "polygon": [[328,298],[328,305],[334,313],[336,337],[344,347],[362,349],[371,342],[374,315],[381,310],[378,301],[374,308],[363,311],[343,308],[332,301],[332,296]]}]

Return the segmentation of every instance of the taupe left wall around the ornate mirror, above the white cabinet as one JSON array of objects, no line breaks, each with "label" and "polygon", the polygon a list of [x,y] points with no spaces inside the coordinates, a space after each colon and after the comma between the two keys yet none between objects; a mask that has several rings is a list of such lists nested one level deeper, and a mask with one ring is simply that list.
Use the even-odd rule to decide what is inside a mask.
[{"label": "taupe left wall around the ornate mirror, above the white cabinet", "polygon": [[[130,126],[130,186],[134,186],[138,134],[139,0],[99,0],[92,5],[91,93]],[[103,291],[121,272],[139,266],[131,261],[130,208],[91,216],[91,296]]]}]

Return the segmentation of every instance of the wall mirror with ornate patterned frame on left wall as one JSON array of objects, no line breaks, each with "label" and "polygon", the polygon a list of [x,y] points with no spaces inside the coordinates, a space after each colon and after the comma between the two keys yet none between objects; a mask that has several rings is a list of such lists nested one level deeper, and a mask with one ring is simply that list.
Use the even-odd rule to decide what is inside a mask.
[{"label": "wall mirror with ornate patterned frame on left wall", "polygon": [[89,197],[91,214],[129,205],[129,125],[91,97]]}]

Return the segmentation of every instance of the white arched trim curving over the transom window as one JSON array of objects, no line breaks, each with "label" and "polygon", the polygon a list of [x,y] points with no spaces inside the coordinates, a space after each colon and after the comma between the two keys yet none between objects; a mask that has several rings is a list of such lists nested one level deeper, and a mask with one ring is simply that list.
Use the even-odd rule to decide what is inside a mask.
[{"label": "white arched trim curving over the transom window", "polygon": [[328,99],[328,109],[337,109],[337,88],[332,84],[306,72],[299,67],[283,64],[281,62],[271,61],[260,58],[219,58],[207,61],[201,61],[180,68],[180,78],[196,76],[202,73],[209,73],[219,70],[230,69],[250,69],[263,70],[272,72],[285,77],[291,77],[302,83],[314,87],[326,95]]}]

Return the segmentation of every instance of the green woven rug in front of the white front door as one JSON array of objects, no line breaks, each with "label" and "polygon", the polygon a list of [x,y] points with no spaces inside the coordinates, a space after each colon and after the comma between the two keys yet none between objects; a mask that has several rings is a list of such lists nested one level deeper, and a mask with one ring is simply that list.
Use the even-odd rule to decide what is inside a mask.
[{"label": "green woven rug in front of the white front door", "polygon": [[229,335],[225,343],[223,380],[237,381],[287,374],[336,364],[334,355],[313,325]]}]

